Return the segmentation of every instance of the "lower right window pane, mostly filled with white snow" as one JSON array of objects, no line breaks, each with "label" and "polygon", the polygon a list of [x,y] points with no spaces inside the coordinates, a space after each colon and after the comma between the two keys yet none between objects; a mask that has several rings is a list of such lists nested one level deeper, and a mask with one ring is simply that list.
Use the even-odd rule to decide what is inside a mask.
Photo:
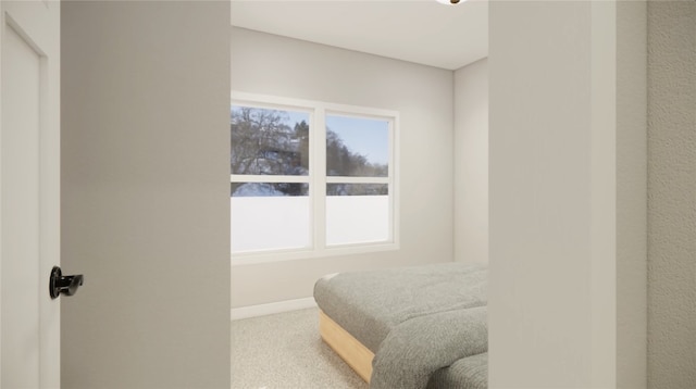
[{"label": "lower right window pane, mostly filled with white snow", "polygon": [[326,190],[336,193],[326,197],[327,246],[389,239],[386,184],[328,184]]}]

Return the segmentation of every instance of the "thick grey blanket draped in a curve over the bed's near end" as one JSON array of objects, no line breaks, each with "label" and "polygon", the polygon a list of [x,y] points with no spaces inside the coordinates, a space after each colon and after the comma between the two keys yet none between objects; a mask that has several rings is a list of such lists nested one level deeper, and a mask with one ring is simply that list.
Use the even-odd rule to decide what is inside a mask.
[{"label": "thick grey blanket draped in a curve over the bed's near end", "polygon": [[486,311],[486,306],[458,309],[397,325],[375,353],[370,388],[423,389],[435,372],[487,352]]}]

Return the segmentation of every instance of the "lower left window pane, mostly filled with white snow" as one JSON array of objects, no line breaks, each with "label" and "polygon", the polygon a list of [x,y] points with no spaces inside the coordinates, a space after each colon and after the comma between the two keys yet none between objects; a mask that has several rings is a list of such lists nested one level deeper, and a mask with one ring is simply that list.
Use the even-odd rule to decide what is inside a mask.
[{"label": "lower left window pane, mostly filled with white snow", "polygon": [[[235,185],[237,185],[236,188]],[[308,184],[233,183],[232,252],[310,247]],[[287,195],[284,190],[298,195]]]}]

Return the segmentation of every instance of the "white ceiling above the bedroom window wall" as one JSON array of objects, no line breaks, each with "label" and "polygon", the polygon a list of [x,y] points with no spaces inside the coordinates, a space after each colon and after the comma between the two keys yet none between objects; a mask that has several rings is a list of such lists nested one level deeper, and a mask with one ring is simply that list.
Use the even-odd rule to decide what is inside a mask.
[{"label": "white ceiling above the bedroom window wall", "polygon": [[488,55],[486,0],[232,0],[232,25],[446,70]]}]

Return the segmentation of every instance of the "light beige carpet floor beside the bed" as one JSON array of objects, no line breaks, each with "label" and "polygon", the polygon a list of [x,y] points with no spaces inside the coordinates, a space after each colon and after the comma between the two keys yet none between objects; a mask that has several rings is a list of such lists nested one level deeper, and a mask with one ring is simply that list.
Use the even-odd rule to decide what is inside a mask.
[{"label": "light beige carpet floor beside the bed", "polygon": [[232,322],[232,389],[368,389],[319,336],[319,310]]}]

